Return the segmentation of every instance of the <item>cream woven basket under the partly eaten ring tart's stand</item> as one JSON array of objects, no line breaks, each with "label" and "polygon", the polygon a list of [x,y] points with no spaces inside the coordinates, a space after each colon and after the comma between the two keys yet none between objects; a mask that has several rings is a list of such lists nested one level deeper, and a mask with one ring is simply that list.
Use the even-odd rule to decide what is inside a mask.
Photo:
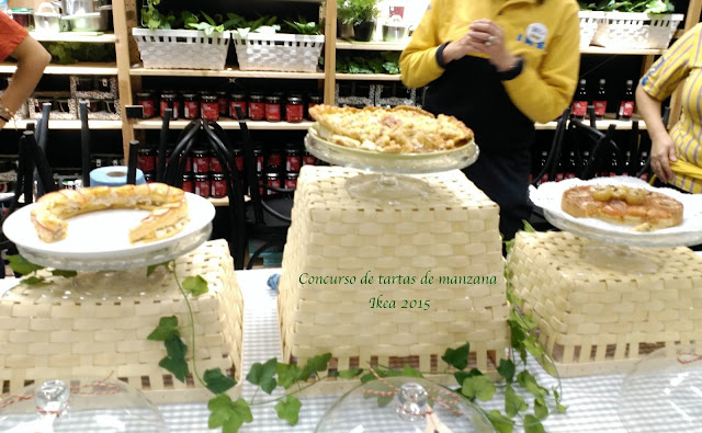
[{"label": "cream woven basket under the partly eaten ring tart's stand", "polygon": [[[176,263],[181,281],[200,275],[210,288],[190,297],[199,373],[218,367],[240,380],[244,301],[227,242],[205,242]],[[0,298],[0,384],[4,391],[20,392],[27,380],[112,376],[147,395],[158,395],[155,401],[207,396],[200,381],[183,384],[161,368],[158,363],[167,356],[163,343],[147,340],[161,317],[176,316],[181,339],[189,346],[188,360],[193,356],[188,308],[173,276],[151,281],[145,269],[137,271],[144,275],[144,285],[120,298],[118,294],[107,300],[66,296],[72,289],[68,278],[18,286]],[[109,293],[109,288],[95,289]],[[194,388],[197,392],[188,392]]]}]

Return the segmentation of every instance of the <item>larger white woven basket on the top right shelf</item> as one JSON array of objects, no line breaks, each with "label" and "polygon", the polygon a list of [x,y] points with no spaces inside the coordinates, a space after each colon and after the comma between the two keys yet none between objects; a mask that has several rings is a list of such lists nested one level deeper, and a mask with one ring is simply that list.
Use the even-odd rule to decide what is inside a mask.
[{"label": "larger white woven basket on the top right shelf", "polygon": [[604,12],[592,45],[619,49],[665,49],[683,18],[681,13]]}]

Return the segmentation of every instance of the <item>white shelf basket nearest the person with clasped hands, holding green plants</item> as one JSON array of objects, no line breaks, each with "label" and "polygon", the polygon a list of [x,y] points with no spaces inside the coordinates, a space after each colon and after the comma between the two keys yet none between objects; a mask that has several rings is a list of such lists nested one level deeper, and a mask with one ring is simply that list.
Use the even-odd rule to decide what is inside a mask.
[{"label": "white shelf basket nearest the person with clasped hands, holding green plants", "polygon": [[233,34],[239,69],[284,72],[316,72],[324,35],[284,33]]}]

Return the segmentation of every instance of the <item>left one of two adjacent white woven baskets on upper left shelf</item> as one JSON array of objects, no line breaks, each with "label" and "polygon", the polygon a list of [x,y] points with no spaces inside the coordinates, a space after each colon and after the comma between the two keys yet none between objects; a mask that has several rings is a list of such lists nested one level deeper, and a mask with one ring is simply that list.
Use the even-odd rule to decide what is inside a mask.
[{"label": "left one of two adjacent white woven baskets on upper left shelf", "polygon": [[224,69],[230,32],[132,29],[145,68]]}]

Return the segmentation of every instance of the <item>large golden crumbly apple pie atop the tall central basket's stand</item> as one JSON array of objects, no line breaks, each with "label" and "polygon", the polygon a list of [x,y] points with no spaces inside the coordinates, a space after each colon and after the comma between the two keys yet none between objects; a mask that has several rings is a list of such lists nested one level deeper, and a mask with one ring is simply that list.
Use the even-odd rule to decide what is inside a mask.
[{"label": "large golden crumbly apple pie atop the tall central basket's stand", "polygon": [[337,145],[387,153],[451,150],[473,140],[473,130],[453,116],[416,106],[393,109],[315,105],[309,109],[322,138]]}]

